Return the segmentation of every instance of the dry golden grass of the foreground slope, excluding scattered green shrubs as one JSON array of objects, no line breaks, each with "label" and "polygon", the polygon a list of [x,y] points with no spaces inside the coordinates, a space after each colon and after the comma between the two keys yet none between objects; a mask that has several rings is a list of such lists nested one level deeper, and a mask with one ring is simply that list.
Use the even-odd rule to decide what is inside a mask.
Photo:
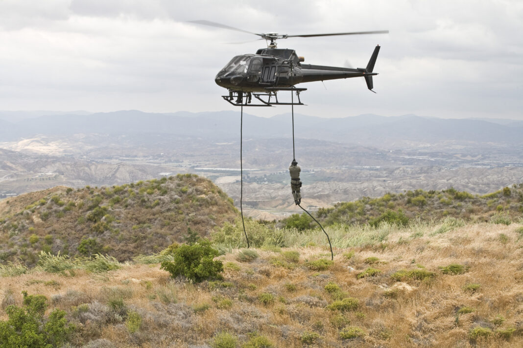
[{"label": "dry golden grass of the foreground slope, excluding scattered green shrubs", "polygon": [[[224,331],[240,344],[257,332],[275,347],[286,348],[304,346],[305,331],[319,333],[311,346],[321,347],[523,347],[523,238],[516,232],[521,225],[468,224],[434,235],[436,227],[393,228],[383,243],[335,248],[334,265],[325,271],[305,266],[329,259],[325,247],[281,250],[298,251],[297,263],[276,262],[285,260],[282,253],[263,249],[256,250],[259,257],[251,262],[237,262],[235,249],[220,257],[237,266],[226,267],[222,282],[190,284],[170,279],[158,265],[128,264],[101,275],[78,270],[74,277],[30,273],[1,278],[0,296],[12,292],[18,304],[22,290],[47,296],[50,307],[64,309],[76,323],[71,346],[78,347],[96,339],[117,347],[206,346]],[[353,256],[344,256],[350,251]],[[440,267],[451,264],[467,271],[441,272]],[[356,277],[369,267],[380,273]],[[426,270],[435,277],[395,281],[391,275],[400,270]],[[40,282],[52,280],[58,284]],[[340,291],[327,292],[329,282]],[[467,288],[470,284],[479,287]],[[264,304],[261,294],[274,299]],[[129,333],[125,315],[114,315],[110,304],[115,297],[140,314],[140,330]],[[358,307],[327,308],[344,297],[356,298]],[[223,299],[232,306],[220,309]],[[463,307],[473,311],[458,314]],[[343,327],[331,321],[342,316],[344,326],[361,329],[363,336],[340,338]],[[1,319],[6,319],[4,311]],[[489,328],[492,334],[474,340],[470,332],[475,327]],[[500,333],[511,328],[508,338]]]}]

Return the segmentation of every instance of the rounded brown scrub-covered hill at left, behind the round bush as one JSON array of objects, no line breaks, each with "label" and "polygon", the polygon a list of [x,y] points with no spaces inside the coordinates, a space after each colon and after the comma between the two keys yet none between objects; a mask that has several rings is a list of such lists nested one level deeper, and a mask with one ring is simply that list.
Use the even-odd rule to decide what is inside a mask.
[{"label": "rounded brown scrub-covered hill at left, behind the round bush", "polygon": [[112,187],[56,187],[0,202],[0,260],[33,265],[40,250],[128,260],[183,242],[189,229],[206,236],[236,216],[222,190],[192,174]]}]

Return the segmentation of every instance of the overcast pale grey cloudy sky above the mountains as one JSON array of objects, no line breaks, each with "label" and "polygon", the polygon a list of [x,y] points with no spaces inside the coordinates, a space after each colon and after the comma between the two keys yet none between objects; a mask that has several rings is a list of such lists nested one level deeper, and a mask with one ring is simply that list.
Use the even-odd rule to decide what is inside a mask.
[{"label": "overcast pale grey cloudy sky above the mountains", "polygon": [[377,94],[363,78],[304,83],[301,114],[523,119],[521,0],[0,0],[0,110],[239,111],[214,76],[265,41],[230,44],[257,37],[191,20],[290,35],[390,30],[278,41],[330,66],[365,67],[382,46]]}]

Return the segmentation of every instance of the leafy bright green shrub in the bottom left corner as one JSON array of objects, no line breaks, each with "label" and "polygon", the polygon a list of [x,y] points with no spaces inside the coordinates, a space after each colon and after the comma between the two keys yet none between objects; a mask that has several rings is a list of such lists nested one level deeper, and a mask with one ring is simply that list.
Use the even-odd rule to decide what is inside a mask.
[{"label": "leafy bright green shrub in the bottom left corner", "polygon": [[74,330],[65,319],[65,311],[53,309],[45,318],[47,298],[28,295],[25,291],[22,294],[23,307],[8,306],[8,319],[0,321],[0,347],[52,348],[65,343]]}]

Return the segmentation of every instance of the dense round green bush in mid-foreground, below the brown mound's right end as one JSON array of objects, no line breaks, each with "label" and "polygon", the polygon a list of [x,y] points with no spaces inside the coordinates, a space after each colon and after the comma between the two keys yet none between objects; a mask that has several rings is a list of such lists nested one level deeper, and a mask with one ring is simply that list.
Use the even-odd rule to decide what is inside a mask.
[{"label": "dense round green bush in mid-foreground, below the brown mound's right end", "polygon": [[169,272],[173,278],[181,275],[194,282],[221,279],[223,263],[214,260],[218,255],[218,250],[209,241],[201,239],[194,245],[180,245],[173,251],[172,261],[162,261],[161,269]]}]

